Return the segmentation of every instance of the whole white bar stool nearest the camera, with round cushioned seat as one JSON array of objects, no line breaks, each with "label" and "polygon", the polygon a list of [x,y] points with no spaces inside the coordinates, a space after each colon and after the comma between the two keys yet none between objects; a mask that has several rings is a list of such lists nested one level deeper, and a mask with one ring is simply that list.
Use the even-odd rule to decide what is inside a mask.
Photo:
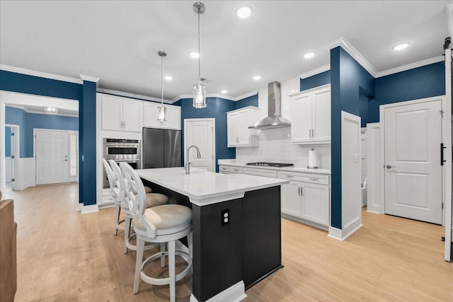
[{"label": "whole white bar stool nearest the camera, with round cushioned seat", "polygon": [[[134,230],[137,233],[137,261],[135,263],[134,294],[139,291],[140,279],[148,284],[170,284],[170,301],[176,301],[176,281],[183,279],[191,272],[192,257],[186,252],[176,250],[176,240],[187,236],[189,250],[192,251],[192,210],[180,204],[164,204],[157,207],[145,207],[145,192],[142,180],[130,165],[120,163],[122,174],[129,183],[126,200],[134,218]],[[166,243],[167,252],[158,252],[143,260],[145,243]],[[191,252],[190,252],[191,253]],[[150,277],[144,267],[162,255],[168,255],[168,278]],[[183,257],[187,267],[178,275],[175,272],[176,255]],[[162,259],[162,258],[161,258]],[[162,263],[161,263],[162,265]]]}]

